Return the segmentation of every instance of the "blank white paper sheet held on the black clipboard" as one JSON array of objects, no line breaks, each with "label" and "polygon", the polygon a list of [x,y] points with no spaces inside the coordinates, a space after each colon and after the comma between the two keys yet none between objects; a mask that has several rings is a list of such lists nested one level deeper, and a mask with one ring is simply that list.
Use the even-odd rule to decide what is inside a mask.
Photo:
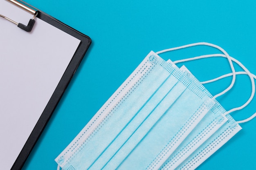
[{"label": "blank white paper sheet held on the black clipboard", "polygon": [[[5,0],[0,14],[22,24],[33,17]],[[27,33],[0,17],[1,169],[11,169],[79,43],[38,18]]]}]

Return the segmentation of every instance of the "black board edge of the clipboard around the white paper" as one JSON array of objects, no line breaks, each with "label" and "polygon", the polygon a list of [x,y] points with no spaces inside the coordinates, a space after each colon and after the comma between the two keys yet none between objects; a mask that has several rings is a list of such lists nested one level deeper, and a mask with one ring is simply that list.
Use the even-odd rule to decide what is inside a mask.
[{"label": "black board edge of the clipboard around the white paper", "polygon": [[[22,3],[24,4],[24,3]],[[27,5],[27,4],[24,4]],[[31,6],[29,6],[31,7]],[[16,161],[14,162],[11,170],[20,170],[22,166],[24,165],[25,161],[27,160],[31,150],[34,148],[36,142],[38,141],[40,135],[42,134],[45,126],[47,125],[47,122],[49,121],[50,117],[54,113],[54,110],[60,101],[65,89],[67,88],[68,84],[70,83],[74,73],[76,72],[76,69],[78,68],[79,64],[81,63],[81,60],[83,59],[86,51],[88,50],[91,39],[84,35],[83,33],[71,28],[70,26],[67,26],[63,22],[53,18],[50,15],[47,15],[46,13],[43,13],[40,10],[37,10],[37,18],[40,20],[43,20],[47,22],[48,24],[51,24],[52,26],[56,27],[57,29],[64,31],[65,33],[72,35],[73,37],[81,40],[78,48],[76,49],[69,65],[67,66],[60,82],[58,83],[58,86],[56,87],[54,93],[52,94],[52,97],[49,99],[49,102],[47,103],[47,106],[43,110],[43,113],[41,114],[40,118],[38,119],[36,126],[32,130],[31,134],[29,135],[29,138],[27,139],[24,147],[20,151],[20,154],[18,155]],[[19,29],[17,27],[17,29]],[[31,28],[33,29],[33,28]]]}]

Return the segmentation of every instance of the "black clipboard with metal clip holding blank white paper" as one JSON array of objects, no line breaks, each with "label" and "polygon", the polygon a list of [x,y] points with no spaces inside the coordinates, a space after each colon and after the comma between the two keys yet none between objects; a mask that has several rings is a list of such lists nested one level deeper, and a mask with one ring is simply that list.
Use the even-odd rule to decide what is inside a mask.
[{"label": "black clipboard with metal clip holding blank white paper", "polygon": [[[72,29],[70,26],[63,24],[61,21],[56,20],[52,16],[47,15],[46,13],[43,13],[42,11],[40,11],[38,9],[34,9],[33,7],[30,7],[28,4],[25,4],[25,2],[23,3],[23,2],[17,1],[17,0],[11,0],[11,2],[14,5],[7,1],[0,0],[0,4],[1,4],[0,6],[3,7],[3,5],[4,6],[6,5],[6,7],[8,6],[7,8],[10,8],[10,9],[12,8],[15,11],[22,10],[24,12],[24,10],[25,10],[26,12],[30,13],[29,15],[31,15],[31,13],[34,13],[34,11],[35,11],[34,16],[31,15],[32,19],[27,20],[27,22],[29,21],[29,23],[34,22],[34,23],[30,23],[30,25],[28,24],[28,26],[31,26],[31,28],[27,29],[27,25],[22,24],[21,27],[23,27],[23,28],[18,26],[21,28],[20,29],[17,26],[15,26],[16,23],[14,23],[14,24],[11,23],[12,21],[14,21],[14,20],[11,20],[11,17],[4,16],[2,14],[2,11],[0,10],[0,14],[2,16],[6,17],[6,18],[4,18],[1,16],[2,18],[0,17],[0,22],[4,23],[4,26],[5,26],[5,24],[7,24],[7,25],[10,24],[7,27],[4,27],[5,30],[1,30],[1,32],[7,31],[7,33],[4,33],[3,35],[7,34],[8,38],[6,38],[6,39],[1,38],[1,40],[0,40],[0,45],[2,46],[2,47],[0,47],[0,49],[2,48],[0,50],[0,67],[1,66],[5,67],[4,64],[6,64],[6,63],[7,63],[7,65],[9,63],[9,67],[10,66],[12,67],[13,64],[14,65],[16,64],[16,67],[7,71],[8,73],[6,72],[6,69],[4,70],[4,69],[0,68],[0,75],[5,76],[4,81],[2,82],[1,86],[3,88],[11,88],[11,90],[9,89],[9,91],[10,91],[10,93],[12,93],[12,95],[8,95],[8,94],[3,95],[4,97],[2,97],[2,98],[1,98],[2,95],[0,95],[0,119],[2,120],[2,122],[0,120],[0,128],[4,129],[4,130],[0,131],[0,135],[1,136],[7,135],[6,138],[8,138],[8,139],[4,139],[4,140],[1,139],[5,143],[2,143],[0,145],[7,145],[6,146],[7,149],[2,154],[3,155],[2,158],[0,158],[1,161],[4,161],[4,162],[0,161],[1,164],[5,163],[5,161],[10,161],[9,156],[8,156],[9,150],[11,150],[12,146],[14,147],[15,144],[19,141],[19,140],[16,140],[13,142],[13,144],[10,144],[10,146],[8,146],[9,143],[12,142],[12,140],[13,140],[13,139],[9,139],[10,138],[9,133],[11,133],[11,135],[14,136],[14,139],[17,139],[17,138],[20,139],[20,137],[24,137],[24,136],[22,136],[22,132],[18,132],[18,133],[15,133],[15,132],[22,129],[23,126],[24,127],[28,126],[28,124],[30,124],[30,121],[32,124],[32,125],[30,125],[30,127],[26,128],[24,130],[24,131],[26,131],[26,134],[29,134],[28,137],[25,137],[26,138],[25,143],[22,144],[23,146],[20,147],[20,149],[18,148],[18,151],[16,148],[15,152],[19,153],[19,154],[17,156],[13,156],[13,155],[11,156],[12,159],[13,159],[13,157],[16,157],[16,159],[11,160],[11,161],[13,161],[13,165],[10,167],[10,162],[9,162],[9,165],[6,166],[6,167],[10,167],[11,170],[19,170],[22,168],[29,153],[35,146],[36,141],[40,137],[47,122],[49,121],[50,117],[52,116],[65,89],[67,88],[70,80],[72,79],[72,76],[76,72],[76,69],[78,68],[81,60],[83,59],[86,51],[88,50],[88,48],[91,44],[91,39],[88,36],[84,35],[83,33],[80,33],[79,31]],[[12,5],[13,7],[11,7],[10,5]],[[20,7],[21,9],[18,7]],[[30,9],[32,10],[32,12],[30,11]],[[23,15],[23,12],[21,12],[22,15]],[[9,22],[10,20],[11,20],[11,22]],[[43,29],[40,28],[39,27],[40,25],[44,25],[45,28],[43,28]],[[13,26],[13,28],[11,26]],[[1,27],[2,27],[2,25],[1,25]],[[24,27],[27,30],[25,30]],[[7,30],[6,28],[10,28],[11,31],[14,31],[15,33],[9,31],[9,29]],[[22,30],[22,29],[24,29],[24,30]],[[38,30],[40,30],[40,31],[38,31]],[[19,32],[16,33],[16,31],[19,31]],[[39,33],[37,33],[37,31]],[[57,33],[60,34],[60,35],[58,35],[60,40],[58,38],[54,38],[54,36],[52,36],[52,35],[51,36],[48,35],[49,33],[50,34],[52,33],[53,35],[55,35]],[[15,36],[14,36],[14,34],[15,34]],[[33,35],[37,36],[36,38],[38,38],[38,39],[36,39],[36,41],[33,39],[35,37],[31,38]],[[14,40],[17,40],[19,38],[19,36],[24,36],[24,37],[23,37],[22,41],[20,40],[20,42],[17,43]],[[48,36],[48,39],[46,38],[46,40],[45,40],[45,37],[47,37],[47,36]],[[13,41],[12,41],[12,39],[13,39]],[[31,40],[33,39],[33,41],[31,42],[30,39]],[[40,39],[42,39],[42,40],[40,40]],[[49,42],[47,42],[48,40],[49,40]],[[9,45],[8,45],[8,43],[6,44],[6,41],[15,42],[14,44],[16,44],[16,45],[12,46],[12,49],[14,52],[11,50],[9,50],[9,51],[7,50],[8,53],[10,52],[15,55],[8,55],[7,52],[6,53],[2,52],[2,51],[5,51],[5,48],[10,48],[10,46],[13,45],[12,43],[10,43]],[[34,43],[34,45],[33,45],[33,43]],[[49,45],[51,43],[53,45]],[[17,44],[20,44],[20,45],[17,45]],[[31,46],[31,44],[32,44],[32,46]],[[41,45],[38,45],[38,44],[41,44]],[[4,46],[4,45],[6,45],[6,46]],[[68,49],[70,46],[72,46],[72,50]],[[31,51],[30,50],[24,51],[24,49],[31,49]],[[19,53],[19,51],[22,51],[22,52]],[[36,51],[36,53],[35,53],[35,51]],[[46,53],[45,51],[48,51],[48,52]],[[51,57],[49,57],[47,55],[44,56],[44,54],[49,54],[49,53],[51,53],[51,51],[55,51],[55,53],[57,53],[57,55],[54,54]],[[61,53],[60,56],[58,56],[58,53]],[[65,58],[66,55],[67,55],[67,57]],[[20,59],[22,57],[24,57],[24,60],[27,59],[28,61],[24,61],[24,60]],[[55,59],[55,57],[56,57],[56,59]],[[38,59],[35,59],[35,58],[38,58]],[[47,58],[47,60],[45,58]],[[64,60],[63,58],[65,58],[65,62],[62,61],[62,60]],[[8,60],[10,60],[10,61],[8,61]],[[24,62],[23,64],[20,64],[23,66],[20,66],[18,62],[13,63],[13,62],[16,62],[16,60],[18,60],[20,62]],[[38,60],[38,62],[37,62],[37,60]],[[2,65],[1,65],[1,63],[2,63]],[[36,64],[38,64],[38,66],[36,66]],[[42,64],[43,64],[43,66],[42,66]],[[61,64],[63,64],[63,66],[58,67],[58,65],[61,65]],[[29,67],[29,66],[31,66],[31,68],[33,68],[33,69],[28,70],[27,72],[25,71],[23,73],[22,69],[27,69],[27,67]],[[9,69],[9,67],[7,69]],[[42,68],[42,71],[37,71],[38,67]],[[38,70],[40,70],[40,69],[38,69]],[[52,72],[50,72],[50,70],[52,70]],[[59,71],[59,70],[61,70],[61,71]],[[1,74],[1,72],[2,72],[2,74]],[[9,72],[11,72],[11,73],[9,73]],[[36,73],[31,74],[31,72],[36,72]],[[55,72],[59,72],[59,73],[55,73]],[[48,75],[47,74],[44,75],[44,73],[45,74],[48,73]],[[55,77],[52,76],[51,73],[54,76],[56,74],[56,76]],[[22,77],[19,74],[22,74],[22,76],[24,76],[24,77]],[[11,77],[13,75],[15,75],[15,76],[12,80],[10,80],[10,83],[9,83],[9,79],[11,79]],[[16,80],[17,78],[19,80]],[[24,82],[25,80],[28,82],[28,86],[29,86],[28,89],[25,86],[26,85],[26,82]],[[13,81],[14,81],[14,83],[13,83]],[[45,82],[45,81],[48,81],[48,82]],[[25,90],[21,89],[20,92],[17,92],[19,89],[17,88],[18,83],[16,83],[16,82],[18,82],[20,84],[24,83],[25,85],[23,85],[23,86],[25,86]],[[49,85],[50,86],[49,88],[51,88],[51,90],[44,89],[44,88],[46,88],[45,86],[47,86],[47,88],[48,88],[48,84],[51,84],[52,82],[55,82],[55,84],[53,83],[53,85]],[[36,86],[38,86],[39,89],[38,89],[38,87],[35,88],[36,90],[33,89],[33,86],[30,85],[31,83],[36,84]],[[12,88],[12,84],[14,84],[13,86],[15,86],[16,88]],[[22,86],[20,84],[19,84],[19,86]],[[1,88],[1,86],[0,86],[0,88]],[[6,89],[4,89],[2,91],[0,90],[0,93],[9,93],[9,92],[5,92],[5,90]],[[31,99],[31,97],[30,98],[27,97],[27,98],[29,98],[29,101],[26,103],[26,99],[27,99],[26,96],[29,96],[27,94],[28,93],[30,94],[30,92],[25,93],[24,91],[30,91],[30,90],[32,91],[31,96],[34,98]],[[13,91],[15,91],[15,93]],[[44,91],[46,91],[49,94],[44,96],[44,99],[42,102],[44,104],[41,104],[40,98],[43,98],[41,96],[44,95],[44,93],[46,93]],[[35,95],[35,93],[38,93],[38,94],[40,93],[41,95]],[[23,94],[23,95],[19,96],[19,94]],[[17,97],[21,98],[21,99],[17,100],[18,102],[16,101]],[[6,102],[6,100],[8,100],[9,102],[8,101]],[[16,102],[12,103],[13,100]],[[39,102],[35,102],[35,104],[33,104],[34,101],[39,101]],[[26,106],[27,108],[23,109],[23,110],[26,110],[26,111],[24,111],[26,116],[22,117],[21,114],[23,114],[23,113],[19,113],[19,111],[17,111],[20,108],[16,108],[16,103],[18,103],[18,104],[24,103],[25,105],[27,104],[27,106]],[[24,104],[23,105],[22,104],[20,104],[21,106],[19,106],[19,107],[22,108],[22,106],[24,106]],[[38,111],[39,113],[36,113],[37,118],[31,119],[31,115],[34,116],[36,114],[34,114],[33,111],[31,111],[32,113],[29,113],[30,106],[33,107],[32,105],[37,105],[37,104],[40,105],[41,108],[38,109],[36,106],[34,106],[35,107],[34,110],[39,110]],[[5,110],[3,109],[1,111],[1,108],[4,108],[5,105],[9,105],[9,107],[6,106]],[[10,106],[15,108],[16,111],[15,111],[15,109],[13,109],[14,111],[9,109]],[[11,111],[9,111],[9,110],[11,110]],[[20,110],[21,110],[20,112],[22,112],[22,109],[20,109]],[[42,112],[40,110],[42,110]],[[10,113],[8,113],[8,111]],[[14,120],[16,118],[15,114],[18,116],[18,118],[19,118],[18,120]],[[12,115],[12,116],[9,116],[9,115]],[[23,120],[23,118],[24,118],[24,120]],[[28,123],[22,124],[23,121],[24,122],[26,121]],[[7,122],[7,123],[5,123],[5,122]],[[18,124],[21,124],[22,126],[15,127],[15,122]],[[14,126],[12,126],[12,127],[14,127],[13,132],[9,131],[9,129],[5,129],[5,126],[9,126],[9,124],[12,124],[12,123],[14,125]],[[18,136],[18,135],[20,135],[20,136]]]}]

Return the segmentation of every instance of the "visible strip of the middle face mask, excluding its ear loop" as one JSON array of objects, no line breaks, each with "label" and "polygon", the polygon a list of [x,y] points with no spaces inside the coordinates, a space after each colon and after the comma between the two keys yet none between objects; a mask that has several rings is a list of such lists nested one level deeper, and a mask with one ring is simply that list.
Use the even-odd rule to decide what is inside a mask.
[{"label": "visible strip of the middle face mask, excluding its ear loop", "polygon": [[[181,70],[189,72],[184,66],[181,67]],[[189,75],[193,81],[198,81],[190,72]],[[202,86],[202,84],[200,85]],[[206,89],[204,91],[209,94]],[[180,163],[189,157],[189,155],[200,147],[227,121],[227,118],[223,115],[226,112],[227,111],[216,101],[216,104],[211,108],[209,113],[207,113],[202,121],[200,121],[200,123],[193,129],[189,136],[186,137],[175,152],[166,159],[160,170],[174,170],[177,168]]]}]

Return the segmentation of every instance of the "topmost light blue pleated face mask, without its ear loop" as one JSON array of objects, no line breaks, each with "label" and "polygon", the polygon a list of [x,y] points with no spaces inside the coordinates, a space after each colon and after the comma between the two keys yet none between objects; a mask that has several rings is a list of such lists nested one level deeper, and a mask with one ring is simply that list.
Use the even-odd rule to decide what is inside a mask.
[{"label": "topmost light blue pleated face mask, without its ear loop", "polygon": [[64,170],[146,168],[167,143],[173,152],[213,105],[186,75],[151,52],[56,162]]}]

